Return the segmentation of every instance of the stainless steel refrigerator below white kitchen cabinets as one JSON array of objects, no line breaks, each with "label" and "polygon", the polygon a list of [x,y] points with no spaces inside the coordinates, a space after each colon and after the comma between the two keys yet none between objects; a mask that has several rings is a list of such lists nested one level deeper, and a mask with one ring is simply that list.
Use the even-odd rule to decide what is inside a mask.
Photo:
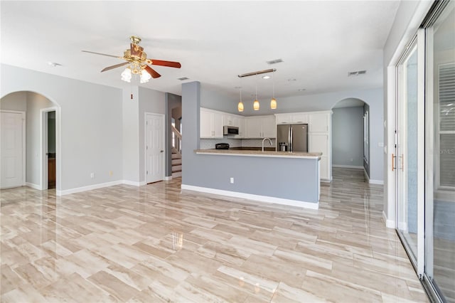
[{"label": "stainless steel refrigerator below white kitchen cabinets", "polygon": [[308,152],[308,124],[277,125],[277,151]]}]

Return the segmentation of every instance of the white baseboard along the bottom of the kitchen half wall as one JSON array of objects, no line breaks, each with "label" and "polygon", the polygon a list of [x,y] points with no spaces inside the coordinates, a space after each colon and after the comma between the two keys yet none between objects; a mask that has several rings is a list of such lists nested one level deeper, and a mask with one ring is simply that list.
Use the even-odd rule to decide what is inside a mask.
[{"label": "white baseboard along the bottom of the kitchen half wall", "polygon": [[184,190],[199,191],[201,193],[214,193],[215,195],[229,196],[229,197],[235,197],[235,198],[245,198],[245,199],[249,199],[249,200],[261,201],[261,202],[266,202],[266,203],[275,203],[275,204],[281,204],[281,205],[287,205],[287,206],[296,206],[296,207],[301,207],[301,208],[310,208],[310,209],[319,208],[319,202],[311,203],[311,202],[290,200],[290,199],[284,199],[284,198],[276,198],[276,197],[270,197],[270,196],[259,196],[259,195],[254,195],[251,193],[240,193],[237,191],[223,191],[222,189],[200,187],[200,186],[193,186],[193,185],[186,185],[186,184],[181,185],[181,190],[182,191],[184,191]]}]

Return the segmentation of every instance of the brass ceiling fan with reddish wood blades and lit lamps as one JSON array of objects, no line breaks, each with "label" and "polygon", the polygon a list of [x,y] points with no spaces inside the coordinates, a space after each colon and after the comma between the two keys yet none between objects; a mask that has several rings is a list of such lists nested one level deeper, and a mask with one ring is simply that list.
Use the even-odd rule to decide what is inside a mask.
[{"label": "brass ceiling fan with reddish wood blades and lit lamps", "polygon": [[129,65],[122,73],[122,80],[130,82],[132,78],[132,74],[140,75],[141,76],[141,83],[146,83],[149,81],[150,78],[159,78],[161,75],[156,72],[153,68],[149,65],[161,65],[161,66],[168,66],[170,68],[181,68],[181,64],[178,62],[173,61],[165,61],[165,60],[155,60],[155,59],[148,59],[147,54],[144,52],[144,48],[139,46],[139,42],[141,42],[141,38],[137,36],[129,37],[131,43],[129,45],[129,49],[125,50],[123,53],[123,57],[119,57],[117,55],[107,55],[105,53],[96,53],[90,50],[82,50],[85,53],[94,53],[95,55],[106,55],[108,57],[114,57],[126,60],[127,62],[119,63],[116,65],[108,66],[101,70],[105,72],[106,70],[112,70],[114,68],[119,68],[124,65]]}]

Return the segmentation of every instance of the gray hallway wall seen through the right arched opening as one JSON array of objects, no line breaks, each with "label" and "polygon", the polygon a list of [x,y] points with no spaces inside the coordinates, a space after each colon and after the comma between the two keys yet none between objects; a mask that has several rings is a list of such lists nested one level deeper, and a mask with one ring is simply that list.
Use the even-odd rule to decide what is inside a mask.
[{"label": "gray hallway wall seen through the right arched opening", "polygon": [[332,109],[332,164],[363,164],[363,107]]}]

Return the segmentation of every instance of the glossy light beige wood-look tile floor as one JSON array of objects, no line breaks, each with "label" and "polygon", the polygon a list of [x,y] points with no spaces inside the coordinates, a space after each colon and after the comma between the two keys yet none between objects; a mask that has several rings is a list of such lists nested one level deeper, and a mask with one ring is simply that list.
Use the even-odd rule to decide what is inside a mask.
[{"label": "glossy light beige wood-look tile floor", "polygon": [[180,179],[1,191],[1,302],[427,302],[382,186],[333,169],[318,211]]}]

